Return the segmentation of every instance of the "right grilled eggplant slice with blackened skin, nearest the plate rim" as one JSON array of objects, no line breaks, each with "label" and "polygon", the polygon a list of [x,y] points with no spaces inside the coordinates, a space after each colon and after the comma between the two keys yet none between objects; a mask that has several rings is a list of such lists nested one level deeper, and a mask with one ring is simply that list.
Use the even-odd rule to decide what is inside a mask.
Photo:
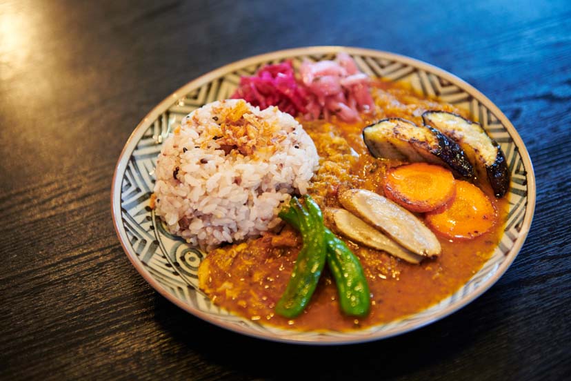
[{"label": "right grilled eggplant slice with blackened skin, nearest the plate rim", "polygon": [[426,111],[422,119],[426,126],[436,128],[459,144],[477,168],[478,175],[488,177],[496,197],[501,198],[508,192],[510,171],[505,156],[479,123],[444,111]]}]

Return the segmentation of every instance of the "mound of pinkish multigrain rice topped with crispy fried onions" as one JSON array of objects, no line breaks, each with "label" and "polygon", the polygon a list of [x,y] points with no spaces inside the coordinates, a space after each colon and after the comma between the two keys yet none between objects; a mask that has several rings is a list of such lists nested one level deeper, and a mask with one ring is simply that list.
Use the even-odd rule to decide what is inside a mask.
[{"label": "mound of pinkish multigrain rice topped with crispy fried onions", "polygon": [[210,250],[277,226],[282,203],[307,192],[318,165],[312,139],[291,115],[243,99],[215,101],[164,141],[154,211],[170,233]]}]

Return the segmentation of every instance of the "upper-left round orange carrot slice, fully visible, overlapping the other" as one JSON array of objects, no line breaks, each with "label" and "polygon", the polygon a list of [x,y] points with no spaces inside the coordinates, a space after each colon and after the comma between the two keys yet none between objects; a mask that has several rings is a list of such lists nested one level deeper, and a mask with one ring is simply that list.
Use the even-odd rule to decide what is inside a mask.
[{"label": "upper-left round orange carrot slice, fully visible, overlapping the other", "polygon": [[430,212],[454,198],[454,175],[441,166],[426,163],[390,168],[385,177],[385,195],[412,212]]}]

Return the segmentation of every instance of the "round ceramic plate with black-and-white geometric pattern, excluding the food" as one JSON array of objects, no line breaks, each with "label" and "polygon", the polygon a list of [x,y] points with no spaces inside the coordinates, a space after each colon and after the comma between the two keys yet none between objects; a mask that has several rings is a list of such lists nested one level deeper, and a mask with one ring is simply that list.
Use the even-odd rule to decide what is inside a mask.
[{"label": "round ceramic plate with black-and-white geometric pattern, excluding the food", "polygon": [[[181,118],[203,104],[232,95],[241,75],[253,75],[260,66],[292,59],[332,59],[343,50],[371,76],[407,82],[423,95],[464,108],[480,121],[505,153],[512,183],[508,222],[499,246],[464,286],[450,297],[414,315],[362,331],[297,332],[264,326],[215,306],[197,287],[197,270],[203,254],[163,229],[154,216],[149,197],[152,173],[161,142]],[[421,61],[388,52],[322,46],[282,50],[251,57],[194,79],[161,102],[134,129],[127,141],[112,184],[112,213],[119,240],[137,271],[168,300],[203,320],[235,332],[280,342],[348,344],[405,333],[457,311],[490,288],[508,269],[528,234],[535,206],[532,163],[521,138],[508,118],[478,90],[448,72]]]}]

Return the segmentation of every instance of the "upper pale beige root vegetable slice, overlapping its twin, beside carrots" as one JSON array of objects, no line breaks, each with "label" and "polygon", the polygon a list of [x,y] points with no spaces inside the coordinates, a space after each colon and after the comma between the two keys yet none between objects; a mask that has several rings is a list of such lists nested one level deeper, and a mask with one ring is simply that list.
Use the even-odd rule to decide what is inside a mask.
[{"label": "upper pale beige root vegetable slice, overlapping its twin, beside carrots", "polygon": [[365,189],[348,189],[339,193],[341,205],[393,240],[423,257],[437,257],[441,246],[436,235],[417,216],[390,199]]}]

